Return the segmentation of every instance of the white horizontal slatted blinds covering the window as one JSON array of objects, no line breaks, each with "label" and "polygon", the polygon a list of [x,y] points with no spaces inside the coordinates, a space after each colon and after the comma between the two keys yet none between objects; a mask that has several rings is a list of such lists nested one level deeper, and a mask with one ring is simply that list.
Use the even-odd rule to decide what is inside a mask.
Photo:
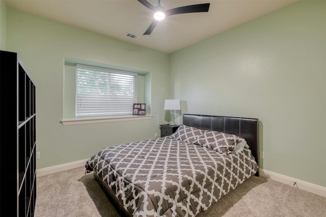
[{"label": "white horizontal slatted blinds covering the window", "polygon": [[76,117],[132,115],[137,73],[76,65]]}]

